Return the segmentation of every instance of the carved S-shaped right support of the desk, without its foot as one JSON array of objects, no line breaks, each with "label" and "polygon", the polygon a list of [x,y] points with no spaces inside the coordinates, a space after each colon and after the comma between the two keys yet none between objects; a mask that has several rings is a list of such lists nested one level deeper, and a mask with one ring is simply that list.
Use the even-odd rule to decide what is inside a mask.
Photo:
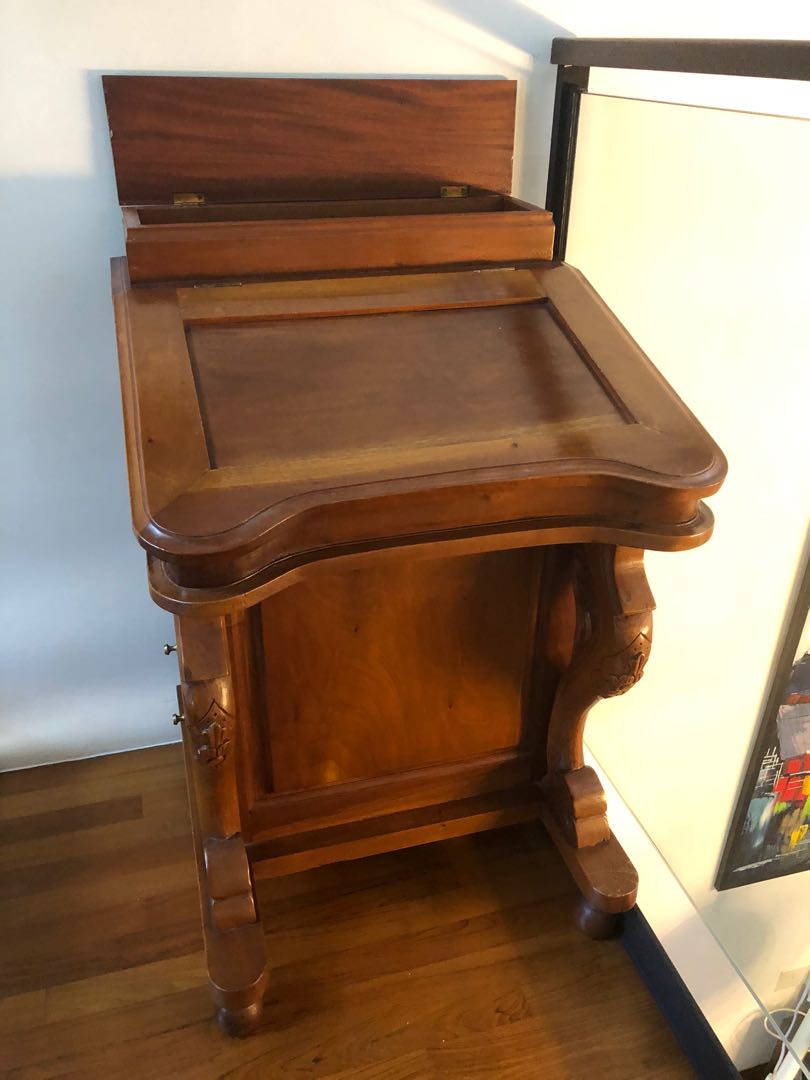
[{"label": "carved S-shaped right support of the desk, without its foot", "polygon": [[575,559],[575,644],[552,705],[541,788],[567,842],[589,848],[609,840],[610,826],[602,784],[584,764],[585,721],[597,701],[642,677],[654,600],[639,549],[581,544]]}]

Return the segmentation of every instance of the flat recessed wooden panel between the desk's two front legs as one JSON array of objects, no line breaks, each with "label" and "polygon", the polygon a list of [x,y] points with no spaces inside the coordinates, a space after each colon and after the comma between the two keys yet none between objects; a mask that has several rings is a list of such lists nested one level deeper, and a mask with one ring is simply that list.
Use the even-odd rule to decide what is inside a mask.
[{"label": "flat recessed wooden panel between the desk's two front legs", "polygon": [[321,567],[266,600],[272,789],[521,745],[540,558]]}]

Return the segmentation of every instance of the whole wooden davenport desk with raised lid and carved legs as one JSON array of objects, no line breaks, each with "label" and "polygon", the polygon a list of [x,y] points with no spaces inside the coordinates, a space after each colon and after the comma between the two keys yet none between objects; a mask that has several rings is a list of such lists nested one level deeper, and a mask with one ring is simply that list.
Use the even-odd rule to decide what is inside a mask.
[{"label": "whole wooden davenport desk with raised lid and carved legs", "polygon": [[542,818],[610,932],[584,766],[650,651],[644,549],[723,454],[510,197],[505,80],[110,77],[135,531],[175,616],[217,1015],[253,880]]}]

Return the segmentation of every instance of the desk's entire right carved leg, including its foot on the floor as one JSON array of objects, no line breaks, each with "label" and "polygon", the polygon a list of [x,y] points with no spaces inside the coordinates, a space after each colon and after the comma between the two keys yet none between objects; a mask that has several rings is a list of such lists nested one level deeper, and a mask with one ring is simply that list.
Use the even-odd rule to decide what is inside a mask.
[{"label": "desk's entire right carved leg, including its foot on the floor", "polygon": [[643,551],[582,544],[573,559],[573,647],[551,707],[540,787],[546,828],[583,894],[578,922],[597,937],[633,906],[638,878],[610,832],[598,777],[584,764],[585,720],[597,701],[625,693],[642,677],[654,600]]}]

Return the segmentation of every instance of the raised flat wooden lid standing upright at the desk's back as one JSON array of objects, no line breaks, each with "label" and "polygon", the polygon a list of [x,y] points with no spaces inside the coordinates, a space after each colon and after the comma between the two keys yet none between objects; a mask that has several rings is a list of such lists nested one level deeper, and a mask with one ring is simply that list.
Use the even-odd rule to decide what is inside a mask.
[{"label": "raised flat wooden lid standing upright at the desk's back", "polygon": [[119,202],[508,193],[515,85],[105,76]]}]

